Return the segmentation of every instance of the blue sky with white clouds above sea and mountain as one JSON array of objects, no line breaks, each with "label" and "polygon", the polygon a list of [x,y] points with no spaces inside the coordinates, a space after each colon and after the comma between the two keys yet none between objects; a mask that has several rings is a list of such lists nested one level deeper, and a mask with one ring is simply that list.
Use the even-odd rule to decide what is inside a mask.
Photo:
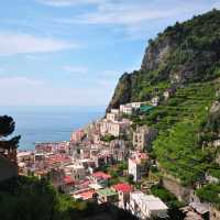
[{"label": "blue sky with white clouds above sea and mountain", "polygon": [[148,38],[213,8],[220,0],[2,1],[0,106],[106,106]]}]

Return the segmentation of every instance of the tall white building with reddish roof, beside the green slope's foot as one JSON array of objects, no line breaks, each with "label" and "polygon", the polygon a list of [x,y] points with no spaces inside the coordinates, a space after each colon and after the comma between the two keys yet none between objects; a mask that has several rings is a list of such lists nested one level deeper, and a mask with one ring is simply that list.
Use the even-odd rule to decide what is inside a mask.
[{"label": "tall white building with reddish roof, beside the green slope's foot", "polygon": [[129,158],[129,174],[133,175],[133,180],[139,182],[147,172],[147,154],[135,153]]}]

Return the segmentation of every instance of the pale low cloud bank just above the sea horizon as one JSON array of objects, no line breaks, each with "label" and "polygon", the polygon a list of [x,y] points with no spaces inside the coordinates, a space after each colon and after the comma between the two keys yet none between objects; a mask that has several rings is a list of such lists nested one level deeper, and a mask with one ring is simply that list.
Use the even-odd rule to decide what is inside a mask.
[{"label": "pale low cloud bank just above the sea horizon", "polygon": [[110,98],[102,91],[101,86],[88,90],[28,77],[0,77],[0,106],[102,106]]}]

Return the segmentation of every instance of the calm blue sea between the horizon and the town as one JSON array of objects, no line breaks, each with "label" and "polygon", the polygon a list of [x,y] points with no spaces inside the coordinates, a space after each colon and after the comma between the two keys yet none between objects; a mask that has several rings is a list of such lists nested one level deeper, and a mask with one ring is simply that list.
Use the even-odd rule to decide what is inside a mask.
[{"label": "calm blue sea between the horizon and the town", "polygon": [[20,150],[34,148],[34,142],[69,141],[70,133],[103,116],[105,107],[0,107],[0,116],[15,121]]}]

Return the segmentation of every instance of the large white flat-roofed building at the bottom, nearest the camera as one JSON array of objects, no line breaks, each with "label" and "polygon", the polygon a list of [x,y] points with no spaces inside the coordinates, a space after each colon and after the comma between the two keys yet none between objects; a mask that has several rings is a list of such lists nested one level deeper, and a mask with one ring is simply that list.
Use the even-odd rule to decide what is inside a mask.
[{"label": "large white flat-roofed building at the bottom, nearest the camera", "polygon": [[153,195],[144,195],[142,191],[130,194],[129,209],[140,219],[167,218],[168,207]]}]

